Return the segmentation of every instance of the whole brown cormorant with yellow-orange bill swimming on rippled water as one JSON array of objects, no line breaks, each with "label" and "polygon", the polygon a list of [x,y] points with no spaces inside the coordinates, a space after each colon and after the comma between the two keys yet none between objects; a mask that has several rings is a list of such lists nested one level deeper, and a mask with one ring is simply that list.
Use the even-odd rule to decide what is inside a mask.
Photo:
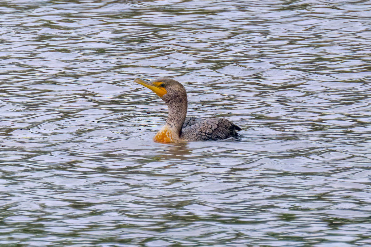
[{"label": "whole brown cormorant with yellow-orange bill swimming on rippled water", "polygon": [[236,124],[220,117],[201,119],[186,117],[188,109],[187,92],[184,86],[169,78],[160,78],[152,82],[137,78],[134,82],[145,86],[165,101],[169,114],[165,125],[157,132],[154,141],[173,143],[180,141],[221,140],[239,137],[241,130]]}]

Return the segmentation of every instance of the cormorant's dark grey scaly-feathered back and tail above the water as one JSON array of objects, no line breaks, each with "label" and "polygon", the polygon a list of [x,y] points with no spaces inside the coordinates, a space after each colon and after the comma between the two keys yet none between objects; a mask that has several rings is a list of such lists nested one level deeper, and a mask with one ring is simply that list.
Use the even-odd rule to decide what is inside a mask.
[{"label": "cormorant's dark grey scaly-feathered back and tail above the water", "polygon": [[237,130],[241,128],[228,119],[187,117],[184,120],[180,138],[187,141],[221,140],[239,137]]}]

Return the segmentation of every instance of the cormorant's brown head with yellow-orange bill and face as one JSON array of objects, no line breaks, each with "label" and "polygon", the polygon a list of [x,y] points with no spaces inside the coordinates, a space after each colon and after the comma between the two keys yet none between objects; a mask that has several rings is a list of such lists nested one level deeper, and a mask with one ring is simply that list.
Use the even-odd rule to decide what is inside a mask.
[{"label": "cormorant's brown head with yellow-orange bill and face", "polygon": [[173,79],[163,77],[150,82],[137,78],[134,82],[151,89],[167,104],[187,101],[187,92],[184,86]]}]

